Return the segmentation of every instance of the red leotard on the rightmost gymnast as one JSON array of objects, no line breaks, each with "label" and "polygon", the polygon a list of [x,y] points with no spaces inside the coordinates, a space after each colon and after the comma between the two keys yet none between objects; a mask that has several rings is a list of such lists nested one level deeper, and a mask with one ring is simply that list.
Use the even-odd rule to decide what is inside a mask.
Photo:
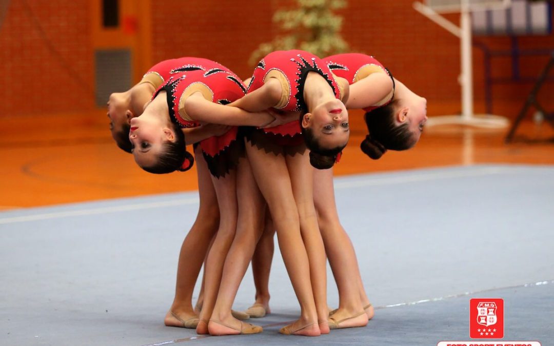
[{"label": "red leotard on the rightmost gymnast", "polygon": [[327,56],[327,58],[322,60],[329,66],[332,73],[346,79],[349,84],[354,84],[372,73],[386,73],[391,77],[393,85],[392,91],[376,105],[364,108],[363,110],[366,112],[387,105],[392,101],[394,97],[394,79],[392,78],[392,74],[383,64],[373,58],[373,56],[361,53],[346,53]]}]

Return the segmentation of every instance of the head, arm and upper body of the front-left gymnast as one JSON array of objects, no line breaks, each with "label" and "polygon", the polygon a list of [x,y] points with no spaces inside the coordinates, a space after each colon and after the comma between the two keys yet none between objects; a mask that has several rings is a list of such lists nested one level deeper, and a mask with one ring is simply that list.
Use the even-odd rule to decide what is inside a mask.
[{"label": "head, arm and upper body of the front-left gymnast", "polygon": [[[153,95],[142,115],[131,119],[129,138],[135,161],[150,173],[183,171],[192,166],[189,162],[192,156],[184,149],[182,128],[202,123],[264,126],[273,122],[274,117],[267,112],[252,114],[225,106],[244,95],[244,91],[242,81],[235,74],[220,68],[171,76]],[[233,127],[225,135],[200,145],[208,157],[221,156],[228,154],[236,135],[237,128]],[[216,176],[229,169],[219,167],[220,172],[216,174],[215,164],[218,163],[209,166]]]}]

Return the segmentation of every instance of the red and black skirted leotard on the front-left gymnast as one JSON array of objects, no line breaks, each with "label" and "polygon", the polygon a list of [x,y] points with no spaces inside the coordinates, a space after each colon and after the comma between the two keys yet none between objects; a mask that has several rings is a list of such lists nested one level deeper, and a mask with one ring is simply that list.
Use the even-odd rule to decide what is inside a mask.
[{"label": "red and black skirted leotard on the front-left gymnast", "polygon": [[[167,94],[171,121],[181,128],[200,125],[183,109],[184,100],[194,92],[201,92],[209,101],[226,105],[244,96],[246,91],[238,76],[224,66],[172,75],[153,97],[161,90],[165,90]],[[232,127],[222,136],[210,137],[199,143],[208,168],[215,177],[224,176],[237,166],[239,157],[243,154],[243,142],[237,140],[237,133],[238,127]],[[190,166],[192,167],[192,163]]]}]

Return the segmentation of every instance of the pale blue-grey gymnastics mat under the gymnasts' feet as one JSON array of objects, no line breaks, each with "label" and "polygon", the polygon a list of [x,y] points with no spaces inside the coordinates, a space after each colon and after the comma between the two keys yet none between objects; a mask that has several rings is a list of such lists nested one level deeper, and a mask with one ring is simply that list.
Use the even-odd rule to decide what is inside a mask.
[{"label": "pale blue-grey gymnastics mat under the gymnasts' feet", "polygon": [[[0,344],[436,345],[469,340],[474,297],[504,298],[504,340],[554,341],[554,167],[350,175],[335,189],[376,306],[365,328],[278,334],[299,313],[278,249],[273,313],[250,321],[264,333],[204,337],[163,326],[198,208],[196,193],[177,193],[0,213]],[[253,300],[248,271],[234,308]]]}]

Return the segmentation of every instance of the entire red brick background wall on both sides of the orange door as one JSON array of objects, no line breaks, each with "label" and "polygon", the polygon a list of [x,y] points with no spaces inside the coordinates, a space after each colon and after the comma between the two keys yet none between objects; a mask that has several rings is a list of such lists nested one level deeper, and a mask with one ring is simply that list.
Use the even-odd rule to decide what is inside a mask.
[{"label": "entire red brick background wall on both sides of the orange door", "polygon": [[[271,17],[286,3],[294,1],[151,1],[152,47],[145,50],[151,52],[145,59],[153,64],[177,56],[202,56],[246,78],[253,69],[247,63],[250,54],[276,33]],[[10,2],[0,28],[0,74],[10,83],[0,90],[0,116],[94,108],[89,7],[87,0]],[[427,97],[430,115],[460,111],[459,40],[414,11],[412,0],[350,0],[341,14],[343,36],[352,50],[375,55],[394,76]],[[458,23],[456,15],[449,19]],[[510,48],[506,37],[476,40],[496,49]],[[520,47],[554,49],[554,35],[521,37]],[[482,112],[483,54],[474,49],[473,56],[475,109]],[[545,56],[522,59],[522,73],[538,75],[546,60]],[[510,71],[509,59],[493,61],[493,76],[509,76]],[[494,86],[494,111],[515,116],[531,87],[529,83]],[[553,91],[554,83],[549,83],[540,95],[550,110]]]}]

